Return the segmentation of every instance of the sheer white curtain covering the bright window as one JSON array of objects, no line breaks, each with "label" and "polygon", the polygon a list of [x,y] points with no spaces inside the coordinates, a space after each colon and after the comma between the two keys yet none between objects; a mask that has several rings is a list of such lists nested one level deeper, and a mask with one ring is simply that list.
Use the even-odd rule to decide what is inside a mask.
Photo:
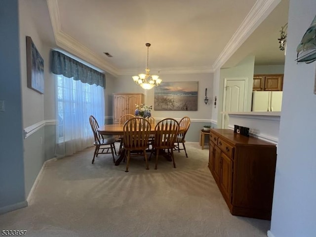
[{"label": "sheer white curtain covering the bright window", "polygon": [[56,78],[56,155],[72,155],[94,142],[89,123],[93,115],[104,124],[104,88],[80,80],[55,75]]}]

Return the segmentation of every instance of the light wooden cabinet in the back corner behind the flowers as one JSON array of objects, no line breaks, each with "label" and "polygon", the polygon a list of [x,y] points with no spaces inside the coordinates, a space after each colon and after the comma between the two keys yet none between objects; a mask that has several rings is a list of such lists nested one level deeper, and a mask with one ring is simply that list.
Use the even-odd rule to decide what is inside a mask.
[{"label": "light wooden cabinet in the back corner behind the flowers", "polygon": [[123,115],[134,115],[136,107],[144,103],[144,94],[139,93],[114,93],[113,94],[113,122],[118,123]]}]

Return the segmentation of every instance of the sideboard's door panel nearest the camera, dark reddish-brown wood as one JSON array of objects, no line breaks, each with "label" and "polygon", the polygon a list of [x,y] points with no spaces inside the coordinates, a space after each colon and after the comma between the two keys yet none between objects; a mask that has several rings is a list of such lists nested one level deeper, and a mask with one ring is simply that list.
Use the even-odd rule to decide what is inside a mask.
[{"label": "sideboard's door panel nearest the camera, dark reddish-brown wood", "polygon": [[233,161],[224,153],[221,155],[221,161],[222,168],[220,175],[220,186],[222,188],[223,195],[226,196],[225,198],[231,201]]}]

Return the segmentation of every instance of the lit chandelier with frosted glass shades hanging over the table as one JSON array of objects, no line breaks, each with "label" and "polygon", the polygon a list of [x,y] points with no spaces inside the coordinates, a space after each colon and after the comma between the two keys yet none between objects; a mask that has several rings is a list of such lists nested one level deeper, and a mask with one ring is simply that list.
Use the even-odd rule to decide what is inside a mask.
[{"label": "lit chandelier with frosted glass shades hanging over the table", "polygon": [[144,89],[151,89],[154,86],[157,86],[161,83],[161,79],[158,78],[159,76],[157,75],[150,75],[149,72],[150,70],[148,69],[148,51],[149,51],[149,46],[150,43],[146,43],[147,46],[147,68],[145,69],[146,74],[138,74],[138,76],[133,76],[133,80],[137,85],[140,85]]}]

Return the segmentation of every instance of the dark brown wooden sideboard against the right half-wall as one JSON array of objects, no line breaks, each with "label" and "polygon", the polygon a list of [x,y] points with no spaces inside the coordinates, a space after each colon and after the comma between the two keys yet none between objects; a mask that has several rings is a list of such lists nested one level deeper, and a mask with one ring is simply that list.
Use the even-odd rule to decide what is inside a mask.
[{"label": "dark brown wooden sideboard against the right half-wall", "polygon": [[233,215],[271,220],[275,144],[211,129],[208,167]]}]

